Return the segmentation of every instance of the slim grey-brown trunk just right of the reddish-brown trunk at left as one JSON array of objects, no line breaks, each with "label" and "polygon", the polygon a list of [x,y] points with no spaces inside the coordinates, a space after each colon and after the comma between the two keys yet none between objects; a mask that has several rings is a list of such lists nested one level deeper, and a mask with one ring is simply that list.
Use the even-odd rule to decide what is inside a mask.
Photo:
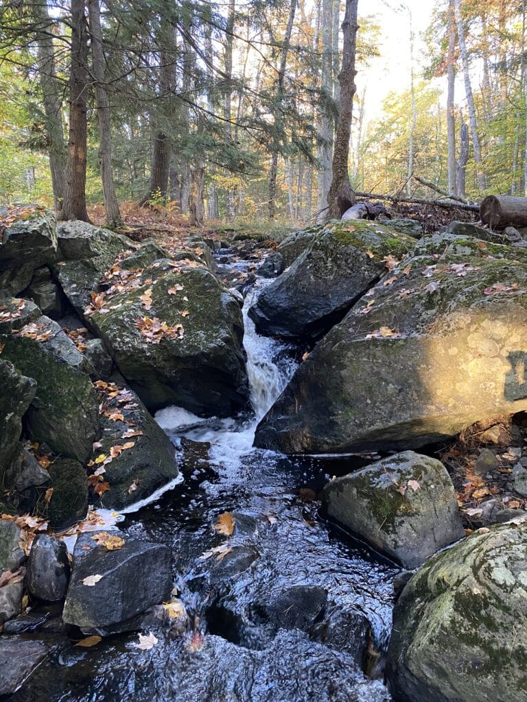
[{"label": "slim grey-brown trunk just right of the reddish-brown trunk at left", "polygon": [[103,181],[104,206],[106,221],[112,227],[122,223],[119,212],[119,202],[115,193],[112,173],[112,133],[110,126],[110,100],[104,87],[104,52],[103,31],[100,28],[99,0],[87,0],[88,18],[91,34],[91,57],[93,60],[93,76],[95,77],[95,97],[99,121],[99,165],[100,178]]}]

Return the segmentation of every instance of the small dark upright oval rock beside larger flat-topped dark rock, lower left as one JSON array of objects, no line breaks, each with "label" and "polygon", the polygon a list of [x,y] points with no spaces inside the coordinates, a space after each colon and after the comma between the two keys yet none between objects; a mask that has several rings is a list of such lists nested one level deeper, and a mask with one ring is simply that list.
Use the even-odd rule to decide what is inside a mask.
[{"label": "small dark upright oval rock beside larger flat-topped dark rock, lower left", "polygon": [[63,541],[39,534],[27,559],[26,587],[30,595],[44,602],[57,602],[66,596],[70,561]]}]

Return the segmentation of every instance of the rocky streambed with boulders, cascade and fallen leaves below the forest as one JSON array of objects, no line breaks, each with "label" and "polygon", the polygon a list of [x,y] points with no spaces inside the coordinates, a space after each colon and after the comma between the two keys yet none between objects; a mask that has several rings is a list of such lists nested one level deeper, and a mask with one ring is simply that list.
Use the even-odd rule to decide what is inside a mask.
[{"label": "rocky streambed with boulders, cascade and fallen leaves below the forest", "polygon": [[1,693],[524,698],[523,246],[344,221],[256,271],[7,212]]}]

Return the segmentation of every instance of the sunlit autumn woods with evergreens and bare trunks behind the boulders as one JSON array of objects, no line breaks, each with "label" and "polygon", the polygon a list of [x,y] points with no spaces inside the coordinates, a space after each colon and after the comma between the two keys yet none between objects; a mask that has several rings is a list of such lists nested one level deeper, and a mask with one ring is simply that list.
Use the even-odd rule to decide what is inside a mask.
[{"label": "sunlit autumn woods with evergreens and bare trunks behind the boulders", "polygon": [[410,69],[372,121],[390,11],[358,0],[6,0],[0,200],[103,203],[119,226],[123,201],[200,224],[337,217],[354,191],[523,195],[526,4],[443,0],[424,57],[394,8]]}]

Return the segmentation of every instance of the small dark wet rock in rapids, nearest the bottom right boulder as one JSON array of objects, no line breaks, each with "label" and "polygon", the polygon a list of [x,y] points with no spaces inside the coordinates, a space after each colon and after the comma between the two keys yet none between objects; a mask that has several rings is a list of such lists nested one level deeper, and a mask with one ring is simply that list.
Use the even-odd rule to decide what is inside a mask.
[{"label": "small dark wet rock in rapids, nearest the bottom right boulder", "polygon": [[333,607],[320,624],[311,631],[314,641],[337,651],[345,651],[353,661],[363,668],[370,635],[370,622],[360,612],[353,609]]}]

